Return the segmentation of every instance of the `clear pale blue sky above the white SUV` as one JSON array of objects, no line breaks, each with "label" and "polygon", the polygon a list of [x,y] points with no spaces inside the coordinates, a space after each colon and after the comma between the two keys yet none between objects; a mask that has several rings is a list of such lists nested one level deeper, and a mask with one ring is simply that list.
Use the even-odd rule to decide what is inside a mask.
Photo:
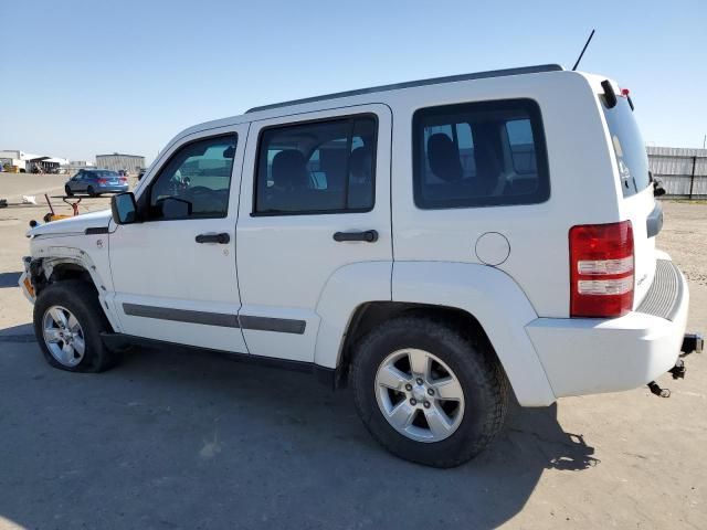
[{"label": "clear pale blue sky above the white SUV", "polygon": [[631,89],[646,144],[701,147],[707,1],[0,0],[0,150],[152,160],[279,100],[541,63]]}]

